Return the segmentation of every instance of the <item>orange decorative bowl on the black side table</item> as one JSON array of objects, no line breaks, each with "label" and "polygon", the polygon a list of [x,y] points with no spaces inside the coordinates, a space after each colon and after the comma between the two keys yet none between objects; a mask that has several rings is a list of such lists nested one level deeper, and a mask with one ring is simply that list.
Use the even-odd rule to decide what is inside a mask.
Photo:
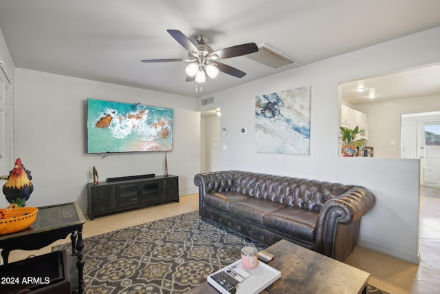
[{"label": "orange decorative bowl on the black side table", "polygon": [[0,209],[0,235],[17,233],[35,222],[36,207],[15,207]]}]

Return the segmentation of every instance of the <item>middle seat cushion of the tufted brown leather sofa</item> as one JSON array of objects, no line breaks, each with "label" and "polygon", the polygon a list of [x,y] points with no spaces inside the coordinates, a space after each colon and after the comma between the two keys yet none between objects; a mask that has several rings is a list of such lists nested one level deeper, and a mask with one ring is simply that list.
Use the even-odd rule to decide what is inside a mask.
[{"label": "middle seat cushion of the tufted brown leather sofa", "polygon": [[237,218],[248,220],[256,224],[264,224],[263,217],[267,213],[285,207],[287,207],[285,204],[251,197],[247,200],[230,203],[229,212]]}]

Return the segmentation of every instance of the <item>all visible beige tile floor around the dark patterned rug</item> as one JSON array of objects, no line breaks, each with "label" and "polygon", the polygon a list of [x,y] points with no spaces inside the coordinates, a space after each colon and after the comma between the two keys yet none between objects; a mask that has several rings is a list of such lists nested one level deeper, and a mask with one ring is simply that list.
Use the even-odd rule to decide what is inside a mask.
[{"label": "all visible beige tile floor around the dark patterned rug", "polygon": [[[162,204],[87,220],[83,229],[83,237],[87,238],[198,209],[197,194],[182,196],[179,203]],[[59,240],[54,244],[63,244],[68,240],[68,238]],[[21,260],[32,254],[48,253],[54,244],[39,251],[12,251],[10,262]],[[371,273],[369,283],[389,293],[440,293],[440,198],[421,197],[420,253],[421,263],[417,265],[357,246],[345,262]]]}]

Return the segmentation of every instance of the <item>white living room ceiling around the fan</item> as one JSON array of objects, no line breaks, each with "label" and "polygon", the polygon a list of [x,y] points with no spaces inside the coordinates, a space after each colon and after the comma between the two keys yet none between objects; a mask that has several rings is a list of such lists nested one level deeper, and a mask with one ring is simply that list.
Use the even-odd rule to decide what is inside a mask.
[{"label": "white living room ceiling around the fan", "polygon": [[[0,0],[0,29],[15,66],[149,90],[204,96],[330,56],[440,25],[438,0]],[[188,53],[167,32],[208,34],[214,50],[269,43],[299,61],[273,70],[243,56],[195,92]],[[438,71],[437,71],[438,73]]]}]

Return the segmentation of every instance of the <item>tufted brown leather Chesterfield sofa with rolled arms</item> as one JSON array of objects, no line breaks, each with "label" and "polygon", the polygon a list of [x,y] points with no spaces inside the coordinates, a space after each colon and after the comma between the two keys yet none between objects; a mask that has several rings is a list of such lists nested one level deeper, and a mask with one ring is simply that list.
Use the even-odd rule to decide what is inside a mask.
[{"label": "tufted brown leather Chesterfield sofa with rolled arms", "polygon": [[340,261],[374,202],[359,186],[247,171],[197,174],[194,182],[201,218],[263,244],[285,239]]}]

